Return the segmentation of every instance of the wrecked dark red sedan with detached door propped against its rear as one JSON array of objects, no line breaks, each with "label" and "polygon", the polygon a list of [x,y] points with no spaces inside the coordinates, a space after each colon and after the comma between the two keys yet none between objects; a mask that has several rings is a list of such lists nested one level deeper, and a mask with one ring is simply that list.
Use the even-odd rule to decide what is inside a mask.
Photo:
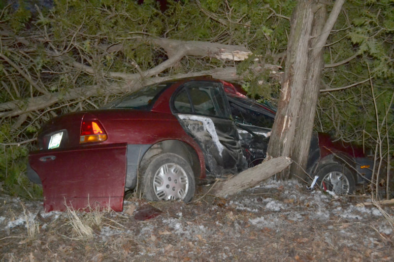
[{"label": "wrecked dark red sedan with detached door propped against its rear", "polygon": [[[263,160],[274,116],[211,77],[153,84],[99,110],[49,120],[29,154],[28,176],[42,184],[45,211],[67,205],[121,211],[129,189],[148,201],[189,202],[196,184]],[[363,164],[364,155],[357,148],[324,135],[311,144],[308,166],[323,187],[346,193],[364,179],[334,157],[346,156],[360,170],[355,163]]]}]

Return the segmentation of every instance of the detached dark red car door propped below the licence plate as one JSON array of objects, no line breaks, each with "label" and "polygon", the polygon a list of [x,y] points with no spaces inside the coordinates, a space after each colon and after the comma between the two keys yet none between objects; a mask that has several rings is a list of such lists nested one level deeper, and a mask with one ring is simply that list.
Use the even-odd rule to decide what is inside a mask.
[{"label": "detached dark red car door propped below the licence plate", "polygon": [[32,152],[29,162],[39,175],[44,210],[106,208],[122,211],[127,144],[78,146]]}]

